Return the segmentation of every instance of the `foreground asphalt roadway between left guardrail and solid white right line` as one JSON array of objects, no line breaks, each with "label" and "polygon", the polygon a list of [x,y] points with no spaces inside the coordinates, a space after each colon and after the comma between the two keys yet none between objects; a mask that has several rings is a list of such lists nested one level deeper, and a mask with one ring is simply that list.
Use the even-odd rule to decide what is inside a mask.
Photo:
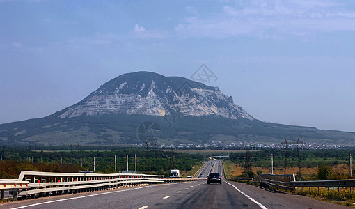
[{"label": "foreground asphalt roadway between left guardrail and solid white right line", "polygon": [[[179,193],[178,193],[179,192]],[[98,195],[60,196],[11,203],[0,208],[259,208],[232,187],[207,185],[207,181],[123,189]],[[46,203],[47,202],[47,203]],[[37,205],[35,205],[37,204]]]}]

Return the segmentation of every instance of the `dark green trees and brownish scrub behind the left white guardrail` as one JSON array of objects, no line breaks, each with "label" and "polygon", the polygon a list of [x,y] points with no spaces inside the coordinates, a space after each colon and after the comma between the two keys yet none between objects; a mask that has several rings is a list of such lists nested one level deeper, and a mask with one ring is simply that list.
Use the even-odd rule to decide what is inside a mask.
[{"label": "dark green trees and brownish scrub behind the left white guardrail", "polygon": [[[115,173],[114,157],[116,155],[116,171],[127,171],[127,155],[129,171],[134,171],[134,155],[138,173],[159,174],[167,176],[170,167],[170,152],[160,150],[124,149],[111,151],[29,151],[1,150],[0,178],[18,178],[19,171],[78,172],[93,171],[95,157],[95,173]],[[189,153],[173,153],[176,169],[182,176],[192,176],[199,169],[203,155]]]}]

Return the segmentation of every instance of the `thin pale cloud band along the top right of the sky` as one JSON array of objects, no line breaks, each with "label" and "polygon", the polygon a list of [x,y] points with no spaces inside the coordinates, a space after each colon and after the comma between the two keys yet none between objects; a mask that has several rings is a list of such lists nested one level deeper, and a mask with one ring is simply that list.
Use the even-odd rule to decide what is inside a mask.
[{"label": "thin pale cloud band along the top right of the sky", "polygon": [[355,11],[343,1],[248,1],[225,5],[218,13],[186,17],[175,26],[183,36],[262,38],[314,36],[317,33],[355,31]]}]

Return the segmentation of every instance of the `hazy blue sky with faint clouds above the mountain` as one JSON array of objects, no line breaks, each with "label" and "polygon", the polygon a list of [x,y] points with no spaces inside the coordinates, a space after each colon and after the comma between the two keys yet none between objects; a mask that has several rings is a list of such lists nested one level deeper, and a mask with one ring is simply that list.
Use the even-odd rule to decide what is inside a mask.
[{"label": "hazy blue sky with faint clouds above the mountain", "polygon": [[205,64],[260,121],[355,132],[355,1],[0,0],[0,123]]}]

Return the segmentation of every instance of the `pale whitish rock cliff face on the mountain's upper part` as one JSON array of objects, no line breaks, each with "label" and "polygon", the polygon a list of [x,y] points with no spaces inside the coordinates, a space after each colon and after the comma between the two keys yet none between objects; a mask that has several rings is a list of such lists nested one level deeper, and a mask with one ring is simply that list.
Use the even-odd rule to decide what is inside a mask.
[{"label": "pale whitish rock cliff face on the mountain's upper part", "polygon": [[[159,79],[168,80],[159,80],[159,82],[157,78],[152,78],[148,82],[147,79],[149,78],[145,77],[145,82],[135,79],[134,82],[120,83],[113,82],[113,79],[91,93],[88,98],[61,111],[58,116],[72,118],[102,114],[219,115],[231,119],[246,118],[255,121],[255,118],[235,104],[231,97],[228,98],[221,93],[219,88],[211,86],[203,88],[195,85],[187,86],[182,92],[179,90],[181,88],[174,90],[175,84],[171,82],[173,78],[161,76]],[[159,86],[157,83],[164,85]]]}]

